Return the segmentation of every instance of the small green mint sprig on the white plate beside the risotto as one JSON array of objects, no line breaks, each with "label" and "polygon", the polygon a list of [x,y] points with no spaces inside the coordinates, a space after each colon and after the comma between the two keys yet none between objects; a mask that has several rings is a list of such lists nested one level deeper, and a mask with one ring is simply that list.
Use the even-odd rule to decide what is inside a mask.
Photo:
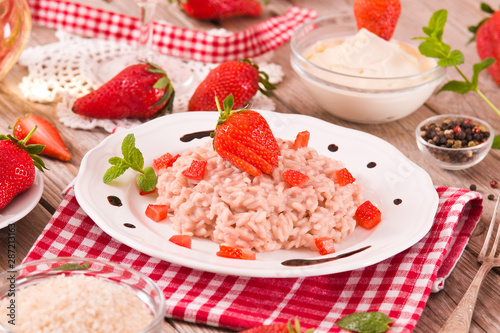
[{"label": "small green mint sprig on the white plate beside the risotto", "polygon": [[131,168],[139,172],[136,178],[139,189],[145,192],[150,192],[156,186],[156,173],[152,167],[144,168],[144,157],[141,151],[135,146],[134,134],[128,134],[122,142],[122,157],[111,157],[108,162],[112,166],[106,170],[103,176],[104,183],[109,183],[112,180],[120,177]]}]

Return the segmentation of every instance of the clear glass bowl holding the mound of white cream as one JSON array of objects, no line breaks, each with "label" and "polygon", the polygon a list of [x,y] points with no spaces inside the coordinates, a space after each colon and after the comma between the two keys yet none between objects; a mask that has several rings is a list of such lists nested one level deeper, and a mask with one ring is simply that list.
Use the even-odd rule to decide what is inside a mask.
[{"label": "clear glass bowl holding the mound of white cream", "polygon": [[[408,24],[400,20],[398,24]],[[418,30],[417,30],[418,31]],[[428,70],[403,77],[362,77],[334,72],[313,64],[308,53],[318,42],[343,39],[357,32],[353,15],[321,17],[299,27],[293,34],[291,65],[316,102],[333,115],[357,123],[384,123],[403,118],[431,96],[446,70],[434,59],[421,56],[415,42],[401,47],[418,57]],[[397,32],[397,31],[396,31]],[[394,40],[403,41],[394,35]],[[416,36],[405,36],[411,40]],[[427,68],[426,67],[426,68]]]}]

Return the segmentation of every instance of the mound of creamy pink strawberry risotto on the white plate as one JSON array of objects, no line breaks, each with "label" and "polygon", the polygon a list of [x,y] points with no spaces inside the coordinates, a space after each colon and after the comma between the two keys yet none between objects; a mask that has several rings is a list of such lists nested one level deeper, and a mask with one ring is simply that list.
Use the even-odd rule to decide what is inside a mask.
[{"label": "mound of creamy pink strawberry risotto on the white plate", "polygon": [[[295,150],[277,138],[281,156],[271,175],[253,177],[221,158],[212,142],[185,151],[172,167],[159,171],[156,204],[169,205],[169,219],[181,234],[258,252],[308,247],[314,238],[341,242],[356,227],[362,203],[360,185],[339,186],[343,164],[311,148]],[[203,180],[182,175],[193,159],[207,161]],[[292,187],[281,174],[298,170],[309,181]]]}]

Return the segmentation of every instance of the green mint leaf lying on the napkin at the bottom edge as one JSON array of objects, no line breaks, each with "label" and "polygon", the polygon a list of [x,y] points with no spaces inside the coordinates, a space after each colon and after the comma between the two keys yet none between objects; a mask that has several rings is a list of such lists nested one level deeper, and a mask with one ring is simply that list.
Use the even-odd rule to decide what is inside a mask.
[{"label": "green mint leaf lying on the napkin at the bottom edge", "polygon": [[337,326],[359,333],[383,333],[393,320],[381,312],[353,313],[337,321]]}]

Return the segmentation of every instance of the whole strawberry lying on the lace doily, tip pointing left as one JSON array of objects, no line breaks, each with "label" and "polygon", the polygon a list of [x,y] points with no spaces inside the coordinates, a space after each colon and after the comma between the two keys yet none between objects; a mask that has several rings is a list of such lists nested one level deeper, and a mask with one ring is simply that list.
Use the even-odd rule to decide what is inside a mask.
[{"label": "whole strawberry lying on the lace doily, tip pointing left", "polygon": [[172,111],[174,88],[157,65],[131,65],[98,89],[78,98],[73,112],[94,118],[151,118]]}]

